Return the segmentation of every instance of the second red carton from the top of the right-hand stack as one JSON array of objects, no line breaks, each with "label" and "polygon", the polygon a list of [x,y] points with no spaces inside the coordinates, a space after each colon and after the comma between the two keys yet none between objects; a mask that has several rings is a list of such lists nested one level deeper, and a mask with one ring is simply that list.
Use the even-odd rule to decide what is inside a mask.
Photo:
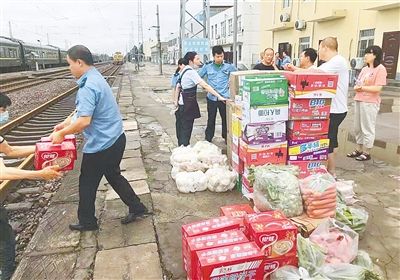
[{"label": "second red carton from the top of the right-hand stack", "polygon": [[289,120],[329,119],[330,98],[289,98]]}]

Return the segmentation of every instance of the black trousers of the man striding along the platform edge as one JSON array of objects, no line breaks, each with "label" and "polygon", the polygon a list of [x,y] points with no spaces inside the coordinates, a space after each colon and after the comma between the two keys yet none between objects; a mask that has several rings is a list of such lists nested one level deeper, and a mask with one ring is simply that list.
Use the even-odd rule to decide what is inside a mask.
[{"label": "black trousers of the man striding along the platform edge", "polygon": [[79,176],[79,207],[78,219],[83,225],[97,223],[95,216],[96,192],[103,175],[121,200],[134,213],[143,209],[139,197],[131,188],[128,180],[121,175],[119,164],[125,150],[125,134],[108,149],[93,154],[84,153]]}]

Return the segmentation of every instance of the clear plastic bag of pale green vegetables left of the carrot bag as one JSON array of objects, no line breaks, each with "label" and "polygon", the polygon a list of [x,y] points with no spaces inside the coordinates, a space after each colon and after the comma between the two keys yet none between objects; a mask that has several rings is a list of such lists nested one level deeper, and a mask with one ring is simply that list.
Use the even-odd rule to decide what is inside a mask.
[{"label": "clear plastic bag of pale green vegetables left of the carrot bag", "polygon": [[254,205],[260,211],[281,210],[286,217],[303,213],[299,181],[296,176],[283,170],[254,171]]}]

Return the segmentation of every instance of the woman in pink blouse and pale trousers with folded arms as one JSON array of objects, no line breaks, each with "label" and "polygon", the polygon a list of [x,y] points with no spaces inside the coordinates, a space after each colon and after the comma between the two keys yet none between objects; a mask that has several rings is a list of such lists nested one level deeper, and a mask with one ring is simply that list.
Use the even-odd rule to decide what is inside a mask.
[{"label": "woman in pink blouse and pale trousers with folded arms", "polygon": [[381,64],[382,49],[369,46],[365,50],[364,61],[367,63],[358,76],[354,90],[356,95],[354,128],[356,134],[356,149],[347,154],[359,161],[370,160],[370,151],[375,140],[376,116],[381,103],[382,86],[386,85],[386,68]]}]

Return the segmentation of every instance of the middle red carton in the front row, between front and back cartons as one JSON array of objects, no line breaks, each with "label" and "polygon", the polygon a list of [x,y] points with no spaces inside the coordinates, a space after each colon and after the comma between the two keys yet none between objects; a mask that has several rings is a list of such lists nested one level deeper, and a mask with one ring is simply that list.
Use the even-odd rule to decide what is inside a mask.
[{"label": "middle red carton in the front row, between front and back cartons", "polygon": [[185,254],[187,257],[185,260],[188,269],[187,278],[196,279],[198,264],[197,251],[245,242],[249,242],[249,240],[241,230],[228,230],[219,233],[188,237],[187,248],[189,251]]}]

